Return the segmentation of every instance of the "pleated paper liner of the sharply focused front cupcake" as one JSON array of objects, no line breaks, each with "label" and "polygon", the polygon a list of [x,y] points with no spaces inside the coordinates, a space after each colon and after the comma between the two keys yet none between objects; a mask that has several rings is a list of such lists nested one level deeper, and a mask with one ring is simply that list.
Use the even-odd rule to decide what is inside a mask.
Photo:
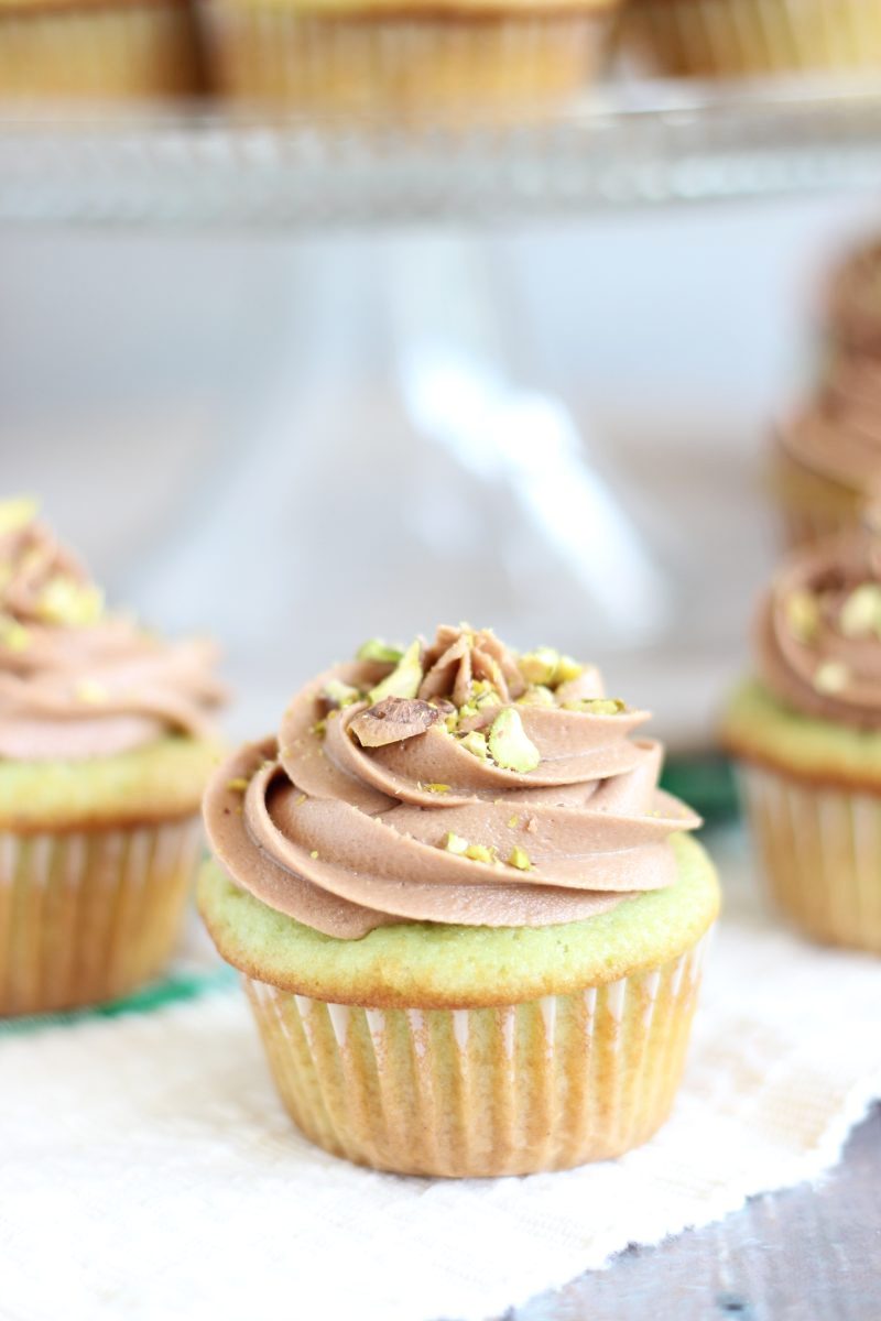
[{"label": "pleated paper liner of the sharply focused front cupcake", "polygon": [[506,1008],[365,1009],[244,984],[281,1099],[317,1145],[408,1174],[522,1174],[617,1156],[664,1122],[705,945]]}]

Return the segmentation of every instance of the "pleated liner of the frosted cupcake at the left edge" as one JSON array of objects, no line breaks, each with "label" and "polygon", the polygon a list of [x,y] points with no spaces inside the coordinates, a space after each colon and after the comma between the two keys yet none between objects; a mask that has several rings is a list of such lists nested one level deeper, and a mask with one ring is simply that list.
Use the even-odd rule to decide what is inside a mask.
[{"label": "pleated liner of the frosted cupcake at the left edge", "polygon": [[0,832],[0,1015],[127,995],[166,964],[201,853],[198,818]]}]

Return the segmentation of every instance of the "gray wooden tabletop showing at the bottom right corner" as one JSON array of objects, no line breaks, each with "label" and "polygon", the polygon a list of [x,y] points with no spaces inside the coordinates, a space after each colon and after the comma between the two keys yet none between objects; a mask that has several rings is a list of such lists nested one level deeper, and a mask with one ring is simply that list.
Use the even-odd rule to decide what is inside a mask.
[{"label": "gray wooden tabletop showing at the bottom right corner", "polygon": [[501,1321],[881,1321],[881,1107],[815,1185],[631,1248]]}]

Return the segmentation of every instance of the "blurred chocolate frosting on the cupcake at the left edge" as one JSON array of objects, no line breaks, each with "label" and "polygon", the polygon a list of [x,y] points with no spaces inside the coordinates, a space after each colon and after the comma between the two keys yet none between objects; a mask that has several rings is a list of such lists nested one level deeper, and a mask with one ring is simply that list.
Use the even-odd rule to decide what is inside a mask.
[{"label": "blurred chocolate frosting on the cupcake at the left edge", "polygon": [[0,503],[0,758],[79,760],[210,734],[223,700],[214,659],[209,642],[165,642],[106,610],[34,503]]}]

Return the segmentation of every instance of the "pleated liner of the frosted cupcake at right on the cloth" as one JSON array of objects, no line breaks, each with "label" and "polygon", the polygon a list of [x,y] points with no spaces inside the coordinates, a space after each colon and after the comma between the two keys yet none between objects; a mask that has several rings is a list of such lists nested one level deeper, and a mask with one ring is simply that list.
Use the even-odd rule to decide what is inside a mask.
[{"label": "pleated liner of the frosted cupcake at right on the cloth", "polygon": [[881,954],[881,798],[741,770],[762,875],[807,935]]}]

